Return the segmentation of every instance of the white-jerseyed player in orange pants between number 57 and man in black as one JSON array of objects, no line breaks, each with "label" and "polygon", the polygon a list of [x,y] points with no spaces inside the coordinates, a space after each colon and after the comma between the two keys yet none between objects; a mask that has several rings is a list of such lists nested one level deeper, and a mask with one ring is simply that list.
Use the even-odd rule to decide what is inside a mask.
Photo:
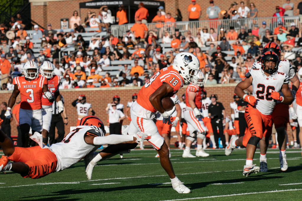
[{"label": "white-jerseyed player in orange pants between number 57 and man in black", "polygon": [[[202,98],[201,98],[201,104],[202,104],[202,113],[204,114],[204,118],[202,118],[202,121],[204,122],[204,126],[207,127],[207,130],[210,134],[210,140],[213,145],[213,149],[216,149],[216,143],[214,139],[214,133],[211,125],[211,119],[209,117],[209,105],[211,105],[212,101],[209,97],[207,97],[207,91],[203,89],[202,92]],[[207,147],[206,140],[203,141],[204,149]]]}]

